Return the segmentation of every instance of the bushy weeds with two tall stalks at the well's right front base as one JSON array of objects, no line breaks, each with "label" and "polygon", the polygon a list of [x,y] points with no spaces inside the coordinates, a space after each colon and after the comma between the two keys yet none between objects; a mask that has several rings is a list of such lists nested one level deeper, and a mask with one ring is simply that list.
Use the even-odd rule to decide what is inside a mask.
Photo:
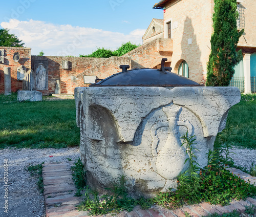
[{"label": "bushy weeds with two tall stalks at the well's right front base", "polygon": [[[230,137],[232,126],[227,124],[226,129],[218,135],[215,151],[209,151],[208,164],[201,168],[198,174],[198,164],[195,161],[193,145],[194,137],[183,135],[182,139],[187,147],[190,164],[188,170],[178,177],[176,192],[159,193],[155,203],[167,208],[177,208],[183,204],[210,204],[227,205],[233,199],[243,200],[256,196],[256,187],[246,183],[238,176],[233,176],[226,167],[230,160]],[[184,144],[183,143],[183,144]],[[222,155],[224,153],[224,155]]]}]

